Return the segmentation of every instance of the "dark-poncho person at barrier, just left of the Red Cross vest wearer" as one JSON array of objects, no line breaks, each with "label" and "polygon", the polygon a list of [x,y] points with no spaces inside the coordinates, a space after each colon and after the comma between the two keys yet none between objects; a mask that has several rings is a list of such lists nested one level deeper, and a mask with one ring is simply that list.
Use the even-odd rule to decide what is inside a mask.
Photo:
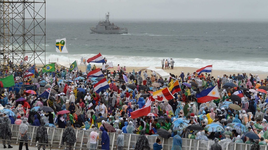
[{"label": "dark-poncho person at barrier, just left of the Red Cross vest wearer", "polygon": [[62,145],[66,142],[66,150],[71,150],[72,147],[76,143],[76,135],[74,129],[72,128],[72,123],[70,121],[67,122],[67,128],[62,134]]}]

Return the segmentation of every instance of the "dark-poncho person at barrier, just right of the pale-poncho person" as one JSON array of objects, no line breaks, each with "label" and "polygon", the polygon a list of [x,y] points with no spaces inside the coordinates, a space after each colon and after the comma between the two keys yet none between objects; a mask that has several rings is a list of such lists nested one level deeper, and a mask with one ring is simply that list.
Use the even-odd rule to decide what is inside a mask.
[{"label": "dark-poncho person at barrier, just right of the pale-poncho person", "polygon": [[[41,146],[43,146],[43,149],[46,149],[45,144],[49,143],[47,128],[44,125],[45,125],[45,122],[41,120],[41,124],[37,128],[37,131],[36,131],[35,142],[38,141],[38,147],[37,147],[38,150],[41,148]],[[45,143],[45,144],[41,144],[41,143]]]}]

